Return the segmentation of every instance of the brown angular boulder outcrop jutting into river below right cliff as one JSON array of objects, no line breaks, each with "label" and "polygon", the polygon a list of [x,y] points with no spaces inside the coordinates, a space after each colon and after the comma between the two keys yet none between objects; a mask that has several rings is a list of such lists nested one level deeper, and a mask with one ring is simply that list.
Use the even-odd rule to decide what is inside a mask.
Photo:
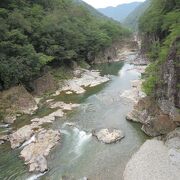
[{"label": "brown angular boulder outcrop jutting into river below right cliff", "polygon": [[150,97],[140,99],[126,119],[142,123],[142,130],[149,136],[167,134],[177,127],[171,117]]}]

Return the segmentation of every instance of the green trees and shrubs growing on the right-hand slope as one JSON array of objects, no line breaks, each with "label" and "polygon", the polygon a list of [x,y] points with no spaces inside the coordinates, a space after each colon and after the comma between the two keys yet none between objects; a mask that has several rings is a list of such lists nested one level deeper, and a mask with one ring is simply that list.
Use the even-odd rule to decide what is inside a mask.
[{"label": "green trees and shrubs growing on the right-hand slope", "polygon": [[180,37],[180,1],[152,0],[140,18],[139,29],[142,49],[152,61],[144,82],[145,92],[151,95],[156,85],[161,83],[161,65],[167,60],[173,42]]}]

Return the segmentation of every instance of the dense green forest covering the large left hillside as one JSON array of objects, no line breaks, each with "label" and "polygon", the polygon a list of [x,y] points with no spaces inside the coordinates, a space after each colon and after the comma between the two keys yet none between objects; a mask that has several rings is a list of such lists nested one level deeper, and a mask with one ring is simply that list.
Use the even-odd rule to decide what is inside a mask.
[{"label": "dense green forest covering the large left hillside", "polygon": [[79,0],[1,0],[1,89],[29,82],[46,65],[88,61],[128,35],[94,12]]}]

